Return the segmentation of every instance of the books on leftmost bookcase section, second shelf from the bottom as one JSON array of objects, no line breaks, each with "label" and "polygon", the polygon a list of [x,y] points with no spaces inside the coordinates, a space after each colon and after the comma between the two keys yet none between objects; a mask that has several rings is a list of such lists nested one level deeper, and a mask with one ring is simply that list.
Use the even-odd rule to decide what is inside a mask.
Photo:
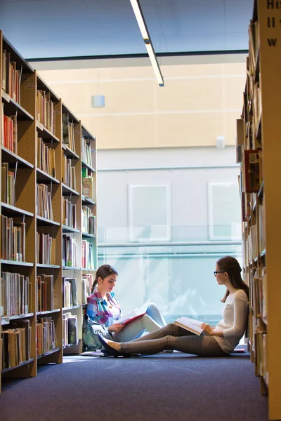
[{"label": "books on leftmost bookcase section, second shelf from the bottom", "polygon": [[1,272],[0,315],[18,316],[30,312],[32,288],[28,276]]}]

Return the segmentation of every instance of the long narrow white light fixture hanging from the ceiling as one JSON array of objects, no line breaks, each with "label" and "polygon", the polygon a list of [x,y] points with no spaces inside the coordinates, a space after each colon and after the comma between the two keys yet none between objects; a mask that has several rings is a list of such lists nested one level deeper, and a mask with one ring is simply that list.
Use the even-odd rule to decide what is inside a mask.
[{"label": "long narrow white light fixture hanging from the ceiling", "polygon": [[143,36],[143,41],[145,42],[145,47],[148,50],[148,55],[152,68],[155,72],[155,76],[159,86],[164,86],[164,79],[157,61],[157,57],[152,46],[152,41],[150,39],[150,34],[148,32],[148,27],[146,26],[145,19],[143,18],[143,11],[141,10],[141,5],[138,0],[130,0],[131,6],[133,8],[133,13],[135,13],[136,20],[138,22],[138,27],[141,31],[141,36]]}]

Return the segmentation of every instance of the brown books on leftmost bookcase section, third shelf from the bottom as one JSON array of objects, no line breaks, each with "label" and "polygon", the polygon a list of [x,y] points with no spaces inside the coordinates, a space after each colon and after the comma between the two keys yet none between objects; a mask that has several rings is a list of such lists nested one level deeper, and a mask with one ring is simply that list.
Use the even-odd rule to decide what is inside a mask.
[{"label": "brown books on leftmost bookcase section, third shelf from the bottom", "polygon": [[25,222],[1,215],[1,259],[25,262]]}]

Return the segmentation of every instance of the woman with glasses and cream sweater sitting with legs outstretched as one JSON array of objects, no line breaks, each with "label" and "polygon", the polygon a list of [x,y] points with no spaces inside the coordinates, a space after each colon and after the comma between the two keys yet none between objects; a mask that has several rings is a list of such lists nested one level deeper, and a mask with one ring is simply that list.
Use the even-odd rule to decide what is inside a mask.
[{"label": "woman with glasses and cream sweater sitting with legs outstretched", "polygon": [[202,335],[195,335],[174,323],[148,333],[131,342],[116,343],[103,340],[103,346],[113,356],[136,354],[157,354],[175,349],[198,356],[227,356],[238,345],[247,328],[249,288],[241,278],[239,262],[226,256],[216,262],[216,281],[226,286],[222,319],[211,327],[202,323]]}]

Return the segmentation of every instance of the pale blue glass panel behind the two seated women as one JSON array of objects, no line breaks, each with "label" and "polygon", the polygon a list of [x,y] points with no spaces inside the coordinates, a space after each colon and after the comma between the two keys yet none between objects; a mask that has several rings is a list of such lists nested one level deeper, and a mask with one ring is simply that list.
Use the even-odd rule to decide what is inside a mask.
[{"label": "pale blue glass panel behind the two seated women", "polygon": [[[216,228],[223,232],[223,227]],[[216,283],[216,260],[233,255],[242,264],[241,241],[202,241],[201,235],[201,241],[197,236],[192,242],[194,229],[176,227],[176,232],[184,233],[185,241],[98,247],[98,265],[108,263],[119,272],[115,293],[125,314],[150,299],[167,322],[178,316],[193,316],[218,323],[225,288]],[[206,233],[207,227],[197,227],[197,231]]]}]

